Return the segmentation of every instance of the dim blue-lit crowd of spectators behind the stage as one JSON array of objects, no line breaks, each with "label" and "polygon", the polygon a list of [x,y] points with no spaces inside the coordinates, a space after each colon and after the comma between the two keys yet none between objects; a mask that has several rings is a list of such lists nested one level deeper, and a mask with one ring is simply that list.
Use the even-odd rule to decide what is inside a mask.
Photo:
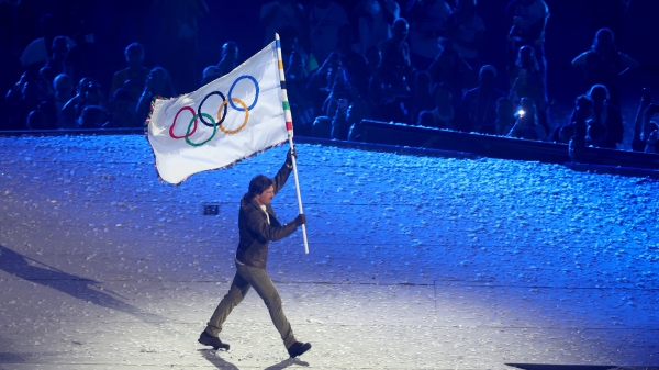
[{"label": "dim blue-lit crowd of spectators behind the stage", "polygon": [[[183,56],[197,53],[197,19],[208,15],[208,4],[145,0],[125,9],[158,14],[158,38],[169,55],[160,53],[160,63],[147,67],[144,45],[131,43],[125,46],[124,68],[103,87],[91,77],[98,60],[90,46],[92,25],[85,16],[96,1],[69,2],[76,4],[70,11],[77,16],[69,20],[68,31],[62,20],[46,14],[33,40],[16,31],[23,16],[21,0],[0,2],[2,48],[13,52],[8,55],[15,55],[21,65],[5,94],[0,128],[139,127],[154,97],[190,92],[239,63],[239,45],[226,41],[216,65],[196,76]],[[629,0],[604,2],[622,14],[629,5]],[[639,63],[617,48],[618,24],[602,24],[592,44],[574,56],[571,64],[589,89],[574,98],[569,120],[552,122],[545,58],[547,3],[512,0],[500,13],[482,16],[503,18],[506,23],[501,45],[505,70],[482,56],[488,30],[476,0],[361,0],[348,10],[332,0],[278,0],[259,11],[264,45],[276,32],[282,41],[298,135],[358,141],[360,122],[373,120],[622,147],[621,76]],[[134,32],[142,40],[144,25]],[[655,153],[656,113],[659,108],[645,89],[634,125],[634,150]]]}]

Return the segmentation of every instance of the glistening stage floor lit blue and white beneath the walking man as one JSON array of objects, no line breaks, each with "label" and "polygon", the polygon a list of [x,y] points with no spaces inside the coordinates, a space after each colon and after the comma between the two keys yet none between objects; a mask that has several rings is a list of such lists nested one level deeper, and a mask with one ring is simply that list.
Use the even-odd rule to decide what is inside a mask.
[{"label": "glistening stage floor lit blue and white beneath the walking man", "polygon": [[[287,147],[159,182],[141,136],[0,138],[0,369],[659,366],[659,182],[495,159],[299,145],[310,254],[268,271],[289,360],[235,272],[239,198]],[[203,215],[203,204],[219,215]],[[293,179],[273,200],[297,215]]]}]

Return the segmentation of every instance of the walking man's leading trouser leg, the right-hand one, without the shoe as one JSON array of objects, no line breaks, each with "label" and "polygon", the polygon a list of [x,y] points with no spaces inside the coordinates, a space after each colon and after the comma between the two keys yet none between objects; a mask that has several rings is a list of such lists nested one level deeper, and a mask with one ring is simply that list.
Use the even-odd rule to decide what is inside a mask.
[{"label": "walking man's leading trouser leg, the right-hand one, without the shoe", "polygon": [[270,312],[272,324],[275,324],[279,335],[281,335],[283,345],[286,348],[291,347],[295,343],[295,336],[291,329],[291,324],[283,314],[283,310],[281,309],[281,298],[279,296],[279,292],[277,291],[277,288],[275,288],[272,280],[270,280],[268,272],[265,269],[257,267],[238,265],[238,273],[254,287],[254,290],[264,300]]}]

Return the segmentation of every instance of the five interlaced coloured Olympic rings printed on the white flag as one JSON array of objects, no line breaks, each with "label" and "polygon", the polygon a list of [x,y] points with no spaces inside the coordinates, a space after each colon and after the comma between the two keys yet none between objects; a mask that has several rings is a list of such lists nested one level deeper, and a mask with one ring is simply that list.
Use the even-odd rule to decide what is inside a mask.
[{"label": "five interlaced coloured Olympic rings printed on the white flag", "polygon": [[[256,94],[254,96],[254,102],[249,106],[247,106],[247,104],[243,100],[232,97],[233,89],[236,87],[237,82],[243,79],[250,80],[252,82],[254,82],[254,87],[256,88]],[[225,135],[237,134],[241,131],[243,131],[243,128],[245,128],[245,126],[247,125],[247,122],[249,122],[249,110],[252,110],[252,109],[254,109],[254,106],[256,106],[256,103],[258,102],[259,93],[260,93],[260,88],[258,86],[258,81],[256,80],[256,78],[248,76],[248,75],[243,75],[234,80],[231,88],[228,89],[228,93],[226,97],[220,91],[212,91],[212,92],[208,93],[201,100],[201,103],[199,103],[199,106],[197,108],[197,112],[194,111],[194,109],[192,106],[182,106],[181,109],[179,109],[179,111],[174,116],[174,122],[171,123],[171,126],[169,127],[169,136],[171,138],[176,138],[176,139],[182,138],[190,146],[202,146],[202,145],[209,143],[211,139],[213,139],[213,137],[215,137],[215,134],[217,133],[217,128],[220,128],[220,131],[222,131]],[[222,103],[220,104],[220,108],[217,108],[216,120],[211,114],[202,113],[202,111],[201,111],[203,103],[211,96],[220,96],[220,98],[222,98]],[[236,105],[235,103],[237,103],[239,106]],[[231,105],[231,108],[234,109],[235,111],[245,112],[245,120],[243,121],[241,126],[235,130],[227,130],[222,125],[228,114],[227,104]],[[183,111],[189,111],[190,113],[192,113],[192,119],[190,119],[190,123],[188,124],[188,130],[186,130],[186,134],[183,136],[179,136],[174,132],[174,130],[175,130],[176,123],[178,122],[178,116]],[[194,132],[197,132],[198,121],[201,121],[201,123],[203,123],[208,127],[213,127],[213,134],[211,134],[211,137],[206,138],[205,141],[203,141],[201,143],[192,143],[190,141],[190,136],[192,136],[194,134]]]}]

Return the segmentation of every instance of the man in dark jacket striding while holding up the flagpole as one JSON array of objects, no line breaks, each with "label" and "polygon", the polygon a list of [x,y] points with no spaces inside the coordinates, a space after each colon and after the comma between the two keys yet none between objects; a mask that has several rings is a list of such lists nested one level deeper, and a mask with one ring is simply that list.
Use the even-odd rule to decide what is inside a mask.
[{"label": "man in dark jacket striding while holding up the flagpole", "polygon": [[241,200],[239,243],[235,257],[236,274],[228,293],[224,295],[199,337],[198,341],[202,345],[212,346],[214,349],[228,349],[228,344],[222,343],[217,337],[222,332],[222,324],[252,287],[266,303],[272,324],[279,330],[289,355],[297,357],[311,349],[311,344],[295,340],[291,325],[283,314],[279,292],[266,271],[268,242],[284,238],[298,226],[306,223],[305,215],[299,214],[295,220],[281,225],[270,205],[272,198],[291,173],[292,156],[298,157],[294,149],[289,150],[286,162],[273,179],[258,175],[249,181],[249,190]]}]

